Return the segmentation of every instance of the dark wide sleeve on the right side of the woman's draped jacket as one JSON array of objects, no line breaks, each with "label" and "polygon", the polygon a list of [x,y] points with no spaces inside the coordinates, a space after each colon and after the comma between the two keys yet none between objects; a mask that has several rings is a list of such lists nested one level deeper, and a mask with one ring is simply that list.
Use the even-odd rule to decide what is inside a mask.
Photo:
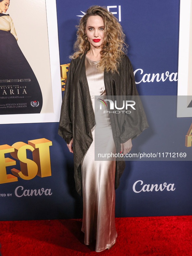
[{"label": "dark wide sleeve on the right side of the woman's draped jacket", "polygon": [[139,134],[149,127],[142,102],[136,89],[133,68],[127,56],[125,56],[123,69],[125,69],[124,72],[126,74],[123,92],[125,93],[124,95],[126,95],[126,99],[135,101],[135,110],[130,108],[129,110],[131,113],[125,113],[124,115],[120,134],[121,143],[125,143],[130,138],[132,140],[135,139]]}]

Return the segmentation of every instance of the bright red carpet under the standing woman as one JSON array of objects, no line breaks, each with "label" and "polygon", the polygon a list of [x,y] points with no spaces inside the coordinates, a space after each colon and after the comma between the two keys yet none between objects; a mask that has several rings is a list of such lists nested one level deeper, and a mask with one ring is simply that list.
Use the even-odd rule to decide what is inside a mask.
[{"label": "bright red carpet under the standing woman", "polygon": [[83,243],[82,220],[0,222],[2,256],[192,256],[192,216],[116,218],[117,242],[95,252]]}]

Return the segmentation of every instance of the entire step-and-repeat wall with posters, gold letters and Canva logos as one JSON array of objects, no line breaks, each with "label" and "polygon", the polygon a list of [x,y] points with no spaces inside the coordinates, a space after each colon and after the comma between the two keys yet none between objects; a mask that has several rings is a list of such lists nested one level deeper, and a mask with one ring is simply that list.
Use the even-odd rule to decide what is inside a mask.
[{"label": "entire step-and-repeat wall with posters, gold letters and Canva logos", "polygon": [[[192,214],[189,98],[182,101],[188,116],[177,117],[180,1],[18,0],[7,13],[18,37],[13,44],[31,73],[16,64],[14,72],[0,68],[1,221],[82,218],[73,155],[58,135],[58,121],[75,26],[91,5],[106,6],[122,25],[149,123],[125,159],[116,217]],[[33,75],[38,88],[31,89]]]}]

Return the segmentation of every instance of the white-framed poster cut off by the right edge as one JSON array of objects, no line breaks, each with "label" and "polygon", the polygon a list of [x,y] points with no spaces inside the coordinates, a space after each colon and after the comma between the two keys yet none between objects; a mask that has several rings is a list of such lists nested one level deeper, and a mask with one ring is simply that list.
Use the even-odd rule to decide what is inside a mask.
[{"label": "white-framed poster cut off by the right edge", "polygon": [[192,117],[192,2],[180,3],[177,117]]}]

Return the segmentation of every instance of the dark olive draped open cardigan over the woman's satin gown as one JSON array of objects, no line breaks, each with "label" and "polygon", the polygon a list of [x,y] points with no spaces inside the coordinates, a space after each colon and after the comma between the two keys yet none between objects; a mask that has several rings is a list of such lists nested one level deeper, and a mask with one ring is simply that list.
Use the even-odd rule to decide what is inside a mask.
[{"label": "dark olive draped open cardigan over the woman's satin gown", "polygon": [[[95,125],[95,115],[85,73],[85,56],[86,53],[77,59],[71,60],[58,129],[58,134],[67,144],[73,138],[74,178],[76,190],[81,196],[82,179],[80,164],[93,141],[91,129]],[[119,74],[104,71],[106,95],[138,95],[132,65],[126,55],[122,57],[118,71]],[[110,121],[116,152],[121,150],[120,143],[124,143],[130,138],[136,138],[148,127],[141,102],[139,103],[137,118],[130,120],[130,115],[125,114],[124,117],[121,115],[121,118],[118,119],[113,114],[110,115]],[[119,186],[124,168],[124,160],[116,160],[115,189]]]}]

